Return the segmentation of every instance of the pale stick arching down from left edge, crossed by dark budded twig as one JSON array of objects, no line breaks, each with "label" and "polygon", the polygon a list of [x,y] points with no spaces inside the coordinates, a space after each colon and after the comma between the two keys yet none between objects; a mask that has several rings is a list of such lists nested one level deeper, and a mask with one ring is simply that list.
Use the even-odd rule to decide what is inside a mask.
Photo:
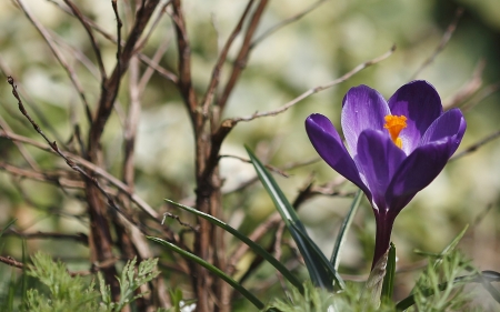
[{"label": "pale stick arching down from left edge, crossed by dark budded twig", "polygon": [[[0,130],[0,138],[6,138],[6,139],[12,140],[12,141],[27,143],[27,144],[33,145],[33,147],[36,147],[38,149],[41,149],[43,151],[56,153],[56,151],[52,150],[51,148],[46,147],[44,144],[41,144],[41,143],[32,140],[32,139],[29,139],[29,138],[26,138],[26,137],[16,134],[16,133],[10,133],[10,132]],[[101,177],[102,179],[107,180],[108,182],[110,182],[111,184],[117,187],[121,192],[123,192],[128,197],[130,197],[132,202],[134,202],[143,212],[146,212],[152,219],[154,219],[157,221],[159,220],[160,214],[157,211],[154,211],[138,194],[131,192],[129,187],[127,187],[119,179],[114,178],[111,173],[109,173],[108,171],[106,171],[102,168],[98,167],[97,164],[94,164],[92,162],[89,162],[88,160],[82,159],[79,155],[76,155],[76,154],[72,154],[72,153],[69,153],[69,152],[66,152],[66,155],[71,158],[73,160],[73,162],[77,162],[79,165],[84,167],[87,170],[90,170],[93,174],[97,174],[97,175]]]}]

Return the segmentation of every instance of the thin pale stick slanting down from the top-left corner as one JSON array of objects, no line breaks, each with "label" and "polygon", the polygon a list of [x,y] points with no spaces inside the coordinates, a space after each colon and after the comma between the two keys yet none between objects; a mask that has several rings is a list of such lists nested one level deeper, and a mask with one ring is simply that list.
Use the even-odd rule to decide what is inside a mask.
[{"label": "thin pale stick slanting down from the top-left corner", "polygon": [[86,94],[83,92],[83,88],[80,84],[80,81],[78,80],[78,77],[73,70],[73,68],[71,68],[68,62],[66,61],[64,57],[62,56],[62,53],[59,51],[59,49],[56,47],[56,44],[53,44],[52,38],[50,36],[50,33],[47,31],[47,29],[33,17],[33,14],[31,13],[31,11],[28,9],[27,6],[24,6],[23,0],[16,0],[18,2],[18,4],[21,7],[22,11],[24,12],[24,14],[27,16],[27,18],[31,21],[31,23],[34,26],[34,28],[40,32],[40,34],[43,37],[43,39],[46,40],[47,44],[49,46],[50,50],[52,51],[53,56],[56,57],[56,59],[59,61],[59,63],[61,64],[61,67],[64,69],[64,71],[68,73],[74,89],[77,90],[78,94],[80,95],[80,99],[84,105],[84,110],[87,113],[87,119],[89,120],[89,122],[91,122],[92,120],[92,113],[90,112],[90,107],[89,103],[87,102],[87,98]]}]

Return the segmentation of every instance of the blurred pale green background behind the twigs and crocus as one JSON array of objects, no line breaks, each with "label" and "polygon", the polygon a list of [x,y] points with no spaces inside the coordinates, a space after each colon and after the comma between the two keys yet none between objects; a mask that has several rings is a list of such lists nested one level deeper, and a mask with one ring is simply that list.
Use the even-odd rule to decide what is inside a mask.
[{"label": "blurred pale green background behind the twigs and crocus", "polygon": [[[94,69],[86,66],[92,62],[93,56],[81,24],[52,1],[24,2],[56,38],[94,107],[100,87]],[[114,32],[116,20],[108,2],[76,1],[102,29]],[[313,3],[310,0],[271,1],[257,37]],[[184,1],[197,90],[206,89],[218,51],[246,4],[247,1],[242,0]],[[462,8],[463,13],[457,29],[442,51],[436,53],[447,28],[457,18],[458,8]],[[0,83],[1,118],[14,132],[42,142],[17,110],[10,85],[4,79],[9,73],[22,87],[24,99],[32,103],[29,109],[38,112],[33,117],[44,118],[40,124],[51,138],[67,142],[77,123],[88,129],[78,94],[67,73],[13,1],[0,2],[0,60],[3,71],[9,71],[3,72],[3,82]],[[114,64],[116,48],[98,38],[106,66],[110,69]],[[144,52],[152,54],[169,40],[170,46],[160,63],[174,70],[177,51],[168,17],[161,19]],[[432,83],[444,104],[453,102],[467,108],[468,130],[457,153],[500,130],[500,92],[494,92],[500,89],[498,0],[322,1],[317,9],[256,46],[247,70],[229,100],[226,114],[242,117],[277,109],[306,90],[339,78],[356,66],[387,52],[393,44],[397,50],[390,58],[346,82],[311,95],[279,115],[240,123],[228,137],[222,154],[247,158],[243,144],[248,144],[278,168],[314,159],[317,154],[303,128],[303,121],[310,113],[328,115],[340,129],[341,100],[349,88],[368,84],[389,98],[400,85],[414,78]],[[234,53],[236,49],[231,51],[230,59],[236,57]],[[433,61],[420,70],[432,56]],[[471,85],[468,84],[470,81],[478,83],[477,91],[466,98],[459,97],[460,101],[456,102],[457,95]],[[126,87],[119,101],[127,105],[129,99],[124,90]],[[164,212],[164,198],[189,203],[194,197],[192,129],[180,95],[160,76],[153,76],[142,102],[136,147],[137,192]],[[117,109],[107,125],[103,141],[106,163],[111,173],[118,170],[113,167],[113,160],[121,157],[121,130],[120,110]],[[50,153],[29,147],[28,150],[43,169],[56,171],[66,165]],[[27,167],[9,140],[0,139],[0,155],[1,163]],[[287,172],[288,178],[278,175],[277,179],[290,200],[311,179],[321,185],[339,178],[321,161]],[[250,164],[231,158],[221,160],[221,173],[226,179],[223,189],[228,192],[254,175]],[[308,230],[327,254],[331,252],[354,188],[343,183],[338,190],[340,195],[314,197],[299,211]],[[420,268],[424,264],[424,258],[413,253],[414,249],[439,252],[469,224],[460,248],[479,269],[500,270],[499,191],[499,141],[493,140],[451,161],[398,217],[392,234],[398,250],[398,265],[401,269]],[[0,171],[0,224],[16,218],[14,228],[18,231],[87,232],[88,221],[81,218],[86,208],[80,198],[78,192],[66,194],[54,185],[13,177],[4,169]],[[227,220],[246,233],[272,212],[272,202],[258,183],[224,197]],[[356,280],[369,272],[373,238],[374,220],[371,208],[364,201],[342,255],[342,273]],[[3,254],[21,255],[19,238],[8,236],[3,244]],[[70,268],[88,265],[88,249],[73,242],[29,240],[27,245],[29,253],[37,250],[49,252],[67,261]],[[10,272],[10,268],[0,265],[0,271]],[[261,274],[248,283],[261,283],[269,272],[269,269],[262,268]],[[400,274],[401,295],[408,292],[404,281],[413,279],[413,272]],[[273,279],[271,284],[276,281]]]}]

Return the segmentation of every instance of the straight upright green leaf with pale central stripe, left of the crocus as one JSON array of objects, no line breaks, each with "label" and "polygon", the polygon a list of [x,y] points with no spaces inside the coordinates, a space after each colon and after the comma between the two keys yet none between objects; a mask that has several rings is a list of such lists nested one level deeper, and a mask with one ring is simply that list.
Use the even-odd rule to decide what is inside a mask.
[{"label": "straight upright green leaf with pale central stripe, left of the crocus", "polygon": [[297,243],[300,253],[306,262],[306,266],[308,268],[309,276],[314,285],[323,289],[332,289],[333,280],[330,278],[328,270],[321,264],[321,260],[313,248],[297,232],[297,230],[291,225],[294,223],[298,229],[302,230],[304,234],[306,228],[302,222],[300,222],[299,217],[297,215],[293,207],[288,202],[281,189],[278,187],[278,183],[274,181],[272,175],[266,170],[266,167],[259,161],[259,159],[253,154],[253,152],[248,148],[247,152],[252,161],[253,167],[256,168],[257,174],[259,175],[260,181],[263,187],[268,191],[272,201],[274,202],[274,207],[278,212],[281,214],[281,218],[284,221],[288,230],[290,231],[291,236]]}]

